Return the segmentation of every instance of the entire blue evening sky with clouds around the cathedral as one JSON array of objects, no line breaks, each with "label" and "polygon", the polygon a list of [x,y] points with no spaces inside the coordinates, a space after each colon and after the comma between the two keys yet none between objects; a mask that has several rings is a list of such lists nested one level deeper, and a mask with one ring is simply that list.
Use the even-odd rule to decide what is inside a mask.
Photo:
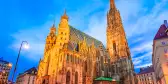
[{"label": "entire blue evening sky with clouds around the cathedral", "polygon": [[[163,20],[168,19],[168,0],[115,1],[138,72],[138,68],[151,65],[153,38]],[[39,59],[43,57],[49,29],[54,19],[58,25],[64,9],[67,10],[70,25],[106,45],[109,0],[0,1],[0,57],[14,65],[21,41],[26,40],[30,45],[29,50],[23,49],[21,52],[17,75],[38,65]]]}]

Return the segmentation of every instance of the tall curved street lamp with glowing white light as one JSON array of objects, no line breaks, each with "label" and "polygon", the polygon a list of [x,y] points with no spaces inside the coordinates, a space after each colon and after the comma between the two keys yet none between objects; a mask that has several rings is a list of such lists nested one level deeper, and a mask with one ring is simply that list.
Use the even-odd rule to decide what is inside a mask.
[{"label": "tall curved street lamp with glowing white light", "polygon": [[[24,43],[26,43],[25,45],[23,45]],[[18,63],[18,60],[19,60],[19,57],[20,57],[20,51],[22,49],[22,46],[25,48],[25,49],[28,49],[29,46],[28,46],[28,42],[27,41],[22,41],[21,45],[20,45],[20,49],[19,49],[19,53],[18,53],[18,57],[17,57],[17,60],[16,60],[16,64],[15,64],[15,67],[14,67],[14,72],[13,72],[13,75],[12,75],[12,82],[13,82],[13,79],[14,79],[14,75],[15,75],[15,72],[16,72],[16,68],[17,68],[17,63]]]}]

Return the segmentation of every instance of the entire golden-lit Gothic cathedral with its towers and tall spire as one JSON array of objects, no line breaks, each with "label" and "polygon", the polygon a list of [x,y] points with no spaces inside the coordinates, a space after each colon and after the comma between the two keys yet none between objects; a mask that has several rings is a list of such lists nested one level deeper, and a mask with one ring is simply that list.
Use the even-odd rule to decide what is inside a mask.
[{"label": "entire golden-lit Gothic cathedral with its towers and tall spire", "polygon": [[102,42],[68,23],[65,13],[46,38],[36,84],[92,84],[97,77],[112,77],[134,84],[133,64],[119,11],[110,0],[107,14],[107,49]]}]

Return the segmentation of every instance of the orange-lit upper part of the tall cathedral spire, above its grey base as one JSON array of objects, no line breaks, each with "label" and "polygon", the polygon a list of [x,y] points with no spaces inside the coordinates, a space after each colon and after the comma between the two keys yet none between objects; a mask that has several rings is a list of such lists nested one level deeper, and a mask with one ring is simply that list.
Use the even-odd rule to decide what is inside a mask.
[{"label": "orange-lit upper part of the tall cathedral spire, above its grey base", "polygon": [[120,12],[117,10],[114,0],[110,0],[110,10],[107,13],[106,32],[107,49],[111,57],[111,62],[115,62],[122,57],[130,58],[130,50],[122,25]]}]

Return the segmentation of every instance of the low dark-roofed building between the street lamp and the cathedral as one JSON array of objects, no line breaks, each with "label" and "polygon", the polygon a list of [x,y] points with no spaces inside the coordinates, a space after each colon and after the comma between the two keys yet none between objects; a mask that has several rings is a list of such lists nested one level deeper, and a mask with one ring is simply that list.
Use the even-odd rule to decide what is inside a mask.
[{"label": "low dark-roofed building between the street lamp and the cathedral", "polygon": [[35,67],[26,70],[24,73],[20,73],[16,79],[15,84],[36,84],[35,79],[37,75],[37,69]]}]

